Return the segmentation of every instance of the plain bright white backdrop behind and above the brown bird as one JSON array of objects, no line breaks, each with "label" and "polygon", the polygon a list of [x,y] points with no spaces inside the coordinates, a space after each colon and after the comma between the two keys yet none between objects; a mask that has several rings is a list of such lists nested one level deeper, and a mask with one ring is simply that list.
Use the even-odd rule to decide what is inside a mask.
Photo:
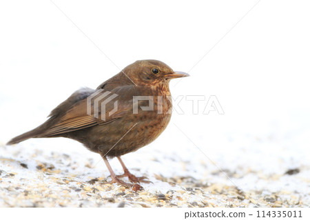
[{"label": "plain bright white backdrop behind and above the brown bird", "polygon": [[[158,59],[191,74],[172,81],[174,97],[216,95],[225,114],[202,114],[206,101],[192,114],[183,99],[185,114],[136,155],[156,151],[193,170],[203,159],[211,169],[194,142],[221,168],[304,166],[309,178],[309,21],[308,1],[1,1],[0,142],[39,126],[74,90]],[[19,147],[88,154],[68,139]]]}]

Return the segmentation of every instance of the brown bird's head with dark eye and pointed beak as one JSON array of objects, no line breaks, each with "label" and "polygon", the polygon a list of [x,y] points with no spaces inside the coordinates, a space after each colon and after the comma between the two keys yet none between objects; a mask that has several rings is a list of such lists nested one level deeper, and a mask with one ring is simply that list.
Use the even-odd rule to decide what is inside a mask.
[{"label": "brown bird's head with dark eye and pointed beak", "polygon": [[185,72],[178,72],[169,68],[167,64],[153,60],[136,61],[122,70],[136,86],[153,86],[162,83],[169,83],[170,79],[188,77]]}]

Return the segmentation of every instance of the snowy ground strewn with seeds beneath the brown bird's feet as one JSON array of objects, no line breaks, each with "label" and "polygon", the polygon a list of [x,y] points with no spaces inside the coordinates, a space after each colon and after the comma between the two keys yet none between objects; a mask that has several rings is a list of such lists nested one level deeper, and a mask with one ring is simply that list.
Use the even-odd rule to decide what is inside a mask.
[{"label": "snowy ground strewn with seeds beneath the brown bird's feet", "polygon": [[[127,163],[132,173],[152,181],[141,183],[143,190],[134,192],[115,183],[108,184],[109,173],[96,154],[87,150],[70,154],[59,152],[59,148],[56,150],[42,150],[37,145],[0,146],[1,207],[310,205],[309,166],[278,174],[238,169],[238,166],[231,166],[230,170],[218,166],[212,169],[210,162],[203,159],[183,160],[172,157],[173,154],[163,157],[161,148],[146,149],[123,157],[125,163],[134,160],[134,163]],[[112,159],[112,167],[121,174],[117,162]]]}]

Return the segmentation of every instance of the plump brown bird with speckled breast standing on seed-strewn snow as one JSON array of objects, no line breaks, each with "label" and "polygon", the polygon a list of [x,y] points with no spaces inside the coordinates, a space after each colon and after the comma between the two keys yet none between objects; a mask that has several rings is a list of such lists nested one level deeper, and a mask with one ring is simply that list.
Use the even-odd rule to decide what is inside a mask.
[{"label": "plump brown bird with speckled breast standing on seed-strewn snow", "polygon": [[[136,61],[96,90],[77,90],[52,110],[45,123],[14,137],[8,145],[30,138],[74,139],[101,154],[110,171],[111,183],[140,188],[118,179],[128,177],[133,183],[149,182],[131,174],[121,156],[146,146],[165,130],[172,112],[169,81],[187,76],[185,72],[174,72],[161,61]],[[107,157],[117,157],[123,175],[116,176]]]}]

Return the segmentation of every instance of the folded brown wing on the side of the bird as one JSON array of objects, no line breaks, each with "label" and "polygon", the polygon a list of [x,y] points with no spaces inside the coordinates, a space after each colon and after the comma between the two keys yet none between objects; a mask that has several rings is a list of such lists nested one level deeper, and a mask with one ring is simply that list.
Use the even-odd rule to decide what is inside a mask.
[{"label": "folded brown wing on the side of the bird", "polygon": [[132,113],[130,90],[133,90],[132,86],[115,88],[111,92],[96,90],[68,108],[65,114],[58,116],[56,123],[52,123],[40,137],[104,125]]}]

